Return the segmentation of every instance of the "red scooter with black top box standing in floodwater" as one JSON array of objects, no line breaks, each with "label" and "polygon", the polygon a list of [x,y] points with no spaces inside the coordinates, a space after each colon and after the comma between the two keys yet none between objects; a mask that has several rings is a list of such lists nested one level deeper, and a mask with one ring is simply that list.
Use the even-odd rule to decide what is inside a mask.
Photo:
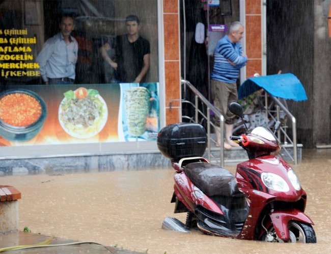
[{"label": "red scooter with black top box standing in floodwater", "polygon": [[[229,109],[242,117],[242,108]],[[274,132],[280,123],[275,124]],[[307,194],[293,169],[281,157],[280,146],[263,127],[232,136],[249,160],[237,165],[236,175],[201,156],[206,149],[204,128],[176,123],[163,128],[157,145],[172,160],[175,213],[187,212],[186,224],[168,217],[162,227],[245,240],[316,243],[313,221],[304,213]]]}]

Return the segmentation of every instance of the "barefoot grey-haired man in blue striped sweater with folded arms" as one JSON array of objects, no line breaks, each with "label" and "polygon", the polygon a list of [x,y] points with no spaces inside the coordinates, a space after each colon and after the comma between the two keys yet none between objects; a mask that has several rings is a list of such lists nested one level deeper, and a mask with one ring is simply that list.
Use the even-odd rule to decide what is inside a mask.
[{"label": "barefoot grey-haired man in blue striped sweater with folded arms", "polygon": [[[235,115],[229,111],[229,105],[237,102],[237,84],[239,70],[246,65],[247,57],[242,52],[240,39],[243,37],[243,25],[236,21],[229,29],[229,34],[217,42],[214,53],[214,69],[211,73],[211,93],[215,108],[225,117],[224,148],[238,146],[230,140]],[[216,127],[216,146],[220,143],[219,119],[214,117]]]}]

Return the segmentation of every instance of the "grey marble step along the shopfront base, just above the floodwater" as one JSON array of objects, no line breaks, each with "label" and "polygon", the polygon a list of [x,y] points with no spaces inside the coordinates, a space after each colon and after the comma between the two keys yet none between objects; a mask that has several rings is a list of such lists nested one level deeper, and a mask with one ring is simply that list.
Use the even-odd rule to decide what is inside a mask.
[{"label": "grey marble step along the shopfront base, just above the floodwater", "polygon": [[[293,157],[293,146],[287,145],[286,148]],[[211,160],[213,164],[220,165],[220,149],[211,147]],[[292,164],[293,161],[282,150],[284,159]],[[298,162],[301,161],[302,145],[298,145]],[[204,154],[208,159],[208,153]],[[241,147],[233,147],[225,150],[225,164],[233,164],[248,159],[247,154]],[[1,159],[1,174],[24,175],[29,173],[52,173],[56,171],[119,171],[119,170],[141,170],[144,168],[160,168],[170,166],[170,160],[161,155],[158,150],[149,151],[126,151],[117,154],[102,155],[67,155],[59,157],[39,157],[39,158],[17,158]]]}]

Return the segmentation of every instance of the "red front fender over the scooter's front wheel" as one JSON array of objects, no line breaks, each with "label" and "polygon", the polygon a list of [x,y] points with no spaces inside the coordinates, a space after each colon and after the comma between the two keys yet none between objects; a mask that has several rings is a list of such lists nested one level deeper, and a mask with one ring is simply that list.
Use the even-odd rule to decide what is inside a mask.
[{"label": "red front fender over the scooter's front wheel", "polygon": [[294,208],[285,211],[274,211],[269,215],[277,236],[284,241],[289,239],[289,221],[298,220],[314,225],[314,222],[305,213]]}]

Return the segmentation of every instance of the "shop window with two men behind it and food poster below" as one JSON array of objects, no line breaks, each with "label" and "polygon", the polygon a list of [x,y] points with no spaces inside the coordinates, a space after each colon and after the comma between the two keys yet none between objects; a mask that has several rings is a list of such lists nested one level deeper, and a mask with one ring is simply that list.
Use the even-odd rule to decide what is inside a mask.
[{"label": "shop window with two men behind it and food poster below", "polygon": [[155,140],[157,23],[156,0],[0,1],[0,146]]}]

